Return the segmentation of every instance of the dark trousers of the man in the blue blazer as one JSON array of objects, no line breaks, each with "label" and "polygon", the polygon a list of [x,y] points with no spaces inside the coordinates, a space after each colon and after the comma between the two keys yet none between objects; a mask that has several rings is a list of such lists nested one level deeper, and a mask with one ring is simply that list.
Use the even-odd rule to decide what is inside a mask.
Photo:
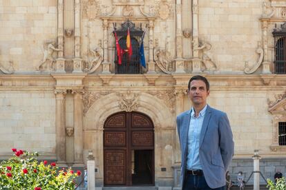
[{"label": "dark trousers of the man in the blue blazer", "polygon": [[[191,173],[186,174],[184,178],[184,187],[182,190],[209,190],[211,189],[208,185],[204,176],[194,176]],[[224,187],[216,188],[215,190],[225,190]]]}]

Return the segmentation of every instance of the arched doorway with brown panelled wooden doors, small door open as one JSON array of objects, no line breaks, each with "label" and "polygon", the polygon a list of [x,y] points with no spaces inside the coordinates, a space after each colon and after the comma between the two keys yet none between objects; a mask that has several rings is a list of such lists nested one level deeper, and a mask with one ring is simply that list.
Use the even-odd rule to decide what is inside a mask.
[{"label": "arched doorway with brown panelled wooden doors, small door open", "polygon": [[140,112],[119,112],[104,123],[104,186],[154,185],[154,127]]}]

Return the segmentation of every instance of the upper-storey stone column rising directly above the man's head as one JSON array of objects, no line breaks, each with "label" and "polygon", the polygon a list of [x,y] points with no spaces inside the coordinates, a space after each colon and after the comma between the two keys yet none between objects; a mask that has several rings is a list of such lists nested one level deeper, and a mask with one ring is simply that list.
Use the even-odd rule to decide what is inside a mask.
[{"label": "upper-storey stone column rising directly above the man's head", "polygon": [[200,73],[202,59],[199,57],[198,41],[198,0],[193,0],[193,73]]}]

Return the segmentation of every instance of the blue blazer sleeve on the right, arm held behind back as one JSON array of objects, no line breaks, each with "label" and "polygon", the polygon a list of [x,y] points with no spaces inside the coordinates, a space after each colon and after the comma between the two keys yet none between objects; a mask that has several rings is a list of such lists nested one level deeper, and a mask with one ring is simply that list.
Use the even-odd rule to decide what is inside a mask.
[{"label": "blue blazer sleeve on the right, arm held behind back", "polygon": [[234,154],[234,142],[231,127],[229,125],[229,119],[227,114],[223,113],[219,121],[219,134],[220,134],[220,154],[222,155],[222,161],[227,171],[231,159]]}]

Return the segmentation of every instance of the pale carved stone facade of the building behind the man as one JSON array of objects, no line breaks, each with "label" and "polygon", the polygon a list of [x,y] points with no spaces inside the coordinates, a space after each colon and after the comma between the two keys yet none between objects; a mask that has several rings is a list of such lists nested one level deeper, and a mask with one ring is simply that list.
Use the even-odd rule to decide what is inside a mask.
[{"label": "pale carved stone facade of the building behind the man", "polygon": [[[155,185],[176,187],[175,116],[191,107],[189,78],[202,74],[209,105],[229,116],[231,175],[251,171],[254,149],[265,177],[276,166],[286,175],[286,75],[274,72],[271,33],[285,12],[281,0],[0,0],[1,158],[15,147],[84,167],[91,150],[102,186],[104,122],[136,111],[153,121]],[[142,74],[115,71],[113,23],[126,21],[146,28]]]}]

